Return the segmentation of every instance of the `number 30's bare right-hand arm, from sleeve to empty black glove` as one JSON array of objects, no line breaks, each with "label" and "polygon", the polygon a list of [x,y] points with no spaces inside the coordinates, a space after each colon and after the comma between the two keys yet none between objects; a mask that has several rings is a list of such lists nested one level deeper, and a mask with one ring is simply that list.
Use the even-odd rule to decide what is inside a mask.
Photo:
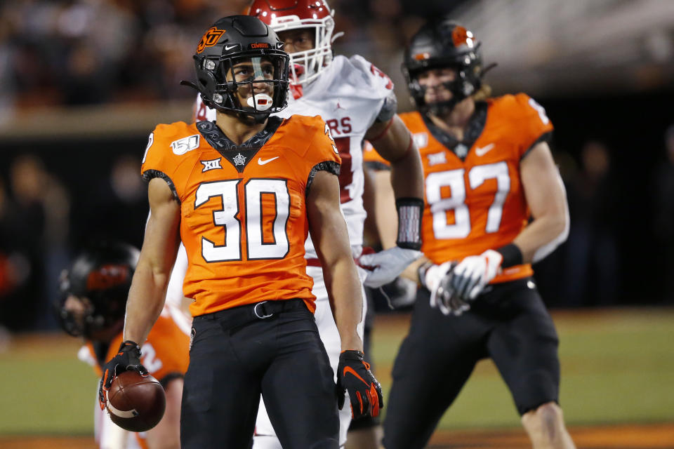
[{"label": "number 30's bare right-hand arm, from sleeve to empty black glove", "polygon": [[362,288],[353,262],[348,231],[339,209],[338,178],[319,171],[307,198],[309,231],[321,260],[323,275],[342,350],[363,350],[356,331],[362,319]]}]

